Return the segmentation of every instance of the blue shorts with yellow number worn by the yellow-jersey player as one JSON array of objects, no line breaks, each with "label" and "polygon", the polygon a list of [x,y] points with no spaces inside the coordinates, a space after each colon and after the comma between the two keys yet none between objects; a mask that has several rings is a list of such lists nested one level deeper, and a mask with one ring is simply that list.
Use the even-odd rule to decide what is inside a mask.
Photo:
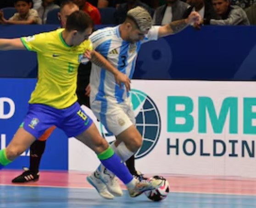
[{"label": "blue shorts with yellow number worn by the yellow-jersey player", "polygon": [[51,126],[61,128],[68,137],[83,133],[93,123],[78,102],[65,109],[56,109],[43,104],[29,104],[23,120],[23,128],[39,138]]}]

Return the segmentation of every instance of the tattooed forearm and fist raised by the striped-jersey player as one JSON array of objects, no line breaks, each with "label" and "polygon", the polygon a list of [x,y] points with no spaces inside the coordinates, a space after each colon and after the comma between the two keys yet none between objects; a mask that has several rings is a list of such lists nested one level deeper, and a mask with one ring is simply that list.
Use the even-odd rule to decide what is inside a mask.
[{"label": "tattooed forearm and fist raised by the striped-jersey player", "polygon": [[182,31],[184,28],[188,27],[191,23],[200,24],[200,15],[193,11],[190,13],[187,19],[172,21],[167,25],[163,25],[159,28],[158,37],[164,37],[167,35],[175,34]]}]

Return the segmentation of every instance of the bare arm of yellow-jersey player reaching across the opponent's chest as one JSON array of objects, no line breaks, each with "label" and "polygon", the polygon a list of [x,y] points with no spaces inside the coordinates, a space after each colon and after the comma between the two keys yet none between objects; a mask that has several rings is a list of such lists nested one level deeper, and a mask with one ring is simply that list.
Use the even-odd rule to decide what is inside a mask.
[{"label": "bare arm of yellow-jersey player reaching across the opponent's chest", "polygon": [[130,87],[131,80],[128,78],[128,76],[123,74],[117,68],[115,68],[112,64],[110,64],[108,60],[105,59],[100,53],[96,51],[91,51],[90,52],[91,57],[88,57],[86,53],[88,53],[88,51],[85,52],[85,55],[88,59],[91,60],[92,63],[96,64],[100,68],[106,69],[109,72],[111,72],[115,76],[116,82],[120,87],[122,87],[122,83],[123,83],[127,91],[131,89]]}]

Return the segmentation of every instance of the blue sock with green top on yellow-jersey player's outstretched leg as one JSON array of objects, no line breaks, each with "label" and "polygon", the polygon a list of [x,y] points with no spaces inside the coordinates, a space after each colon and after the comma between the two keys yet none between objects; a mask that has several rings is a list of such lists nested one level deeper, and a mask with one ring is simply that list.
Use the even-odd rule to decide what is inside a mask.
[{"label": "blue sock with green top on yellow-jersey player's outstretched leg", "polygon": [[114,151],[109,147],[104,152],[98,155],[101,163],[114,173],[124,184],[128,184],[133,180],[133,176],[121,161],[121,159],[114,153]]}]

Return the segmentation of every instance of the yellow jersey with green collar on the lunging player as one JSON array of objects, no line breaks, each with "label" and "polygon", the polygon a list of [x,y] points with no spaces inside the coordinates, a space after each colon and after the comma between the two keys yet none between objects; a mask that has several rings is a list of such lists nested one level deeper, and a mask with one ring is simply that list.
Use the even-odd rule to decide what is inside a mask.
[{"label": "yellow jersey with green collar on the lunging player", "polygon": [[85,50],[92,50],[92,44],[85,40],[70,47],[62,37],[63,30],[21,37],[24,46],[36,52],[38,59],[38,81],[28,101],[31,104],[63,109],[77,101],[78,66]]}]

